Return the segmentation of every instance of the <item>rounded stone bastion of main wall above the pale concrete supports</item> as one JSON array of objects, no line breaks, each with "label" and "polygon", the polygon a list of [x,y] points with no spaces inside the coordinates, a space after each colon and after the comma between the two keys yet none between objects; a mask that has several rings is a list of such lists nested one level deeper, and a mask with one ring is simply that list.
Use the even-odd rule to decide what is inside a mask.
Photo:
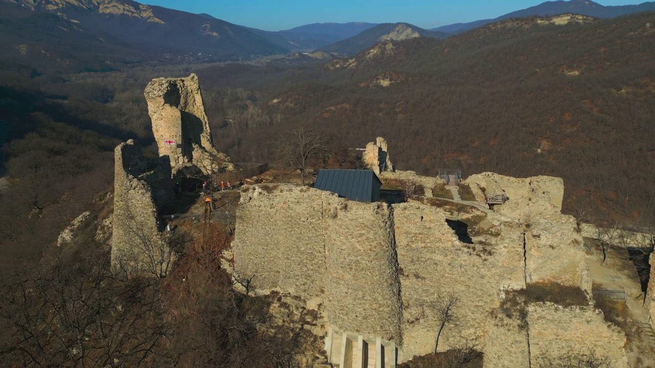
[{"label": "rounded stone bastion of main wall above the pale concrete supports", "polygon": [[326,316],[336,329],[400,340],[398,261],[388,204],[340,200],[326,236]]}]

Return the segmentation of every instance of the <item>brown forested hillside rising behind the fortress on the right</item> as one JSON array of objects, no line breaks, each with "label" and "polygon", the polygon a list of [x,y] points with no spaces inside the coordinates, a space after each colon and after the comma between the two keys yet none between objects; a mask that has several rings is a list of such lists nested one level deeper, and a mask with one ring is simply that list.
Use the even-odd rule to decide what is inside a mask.
[{"label": "brown forested hillside rising behind the fortress on the right", "polygon": [[320,70],[209,67],[199,75],[208,92],[257,91],[250,109],[283,117],[221,130],[219,149],[238,159],[264,160],[271,136],[304,123],[347,147],[384,136],[400,168],[423,174],[561,176],[567,211],[637,221],[655,206],[655,16],[589,21],[506,20],[445,41],[378,45]]}]

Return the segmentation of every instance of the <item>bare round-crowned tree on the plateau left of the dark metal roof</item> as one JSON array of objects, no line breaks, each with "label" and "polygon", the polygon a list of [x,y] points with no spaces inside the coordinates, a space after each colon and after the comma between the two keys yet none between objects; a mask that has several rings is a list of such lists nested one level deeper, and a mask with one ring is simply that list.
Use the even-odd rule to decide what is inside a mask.
[{"label": "bare round-crowned tree on the plateau left of the dark metal roof", "polygon": [[290,130],[280,135],[278,141],[273,143],[280,162],[300,171],[301,185],[305,185],[305,174],[310,160],[319,158],[326,150],[324,136],[305,127]]}]

